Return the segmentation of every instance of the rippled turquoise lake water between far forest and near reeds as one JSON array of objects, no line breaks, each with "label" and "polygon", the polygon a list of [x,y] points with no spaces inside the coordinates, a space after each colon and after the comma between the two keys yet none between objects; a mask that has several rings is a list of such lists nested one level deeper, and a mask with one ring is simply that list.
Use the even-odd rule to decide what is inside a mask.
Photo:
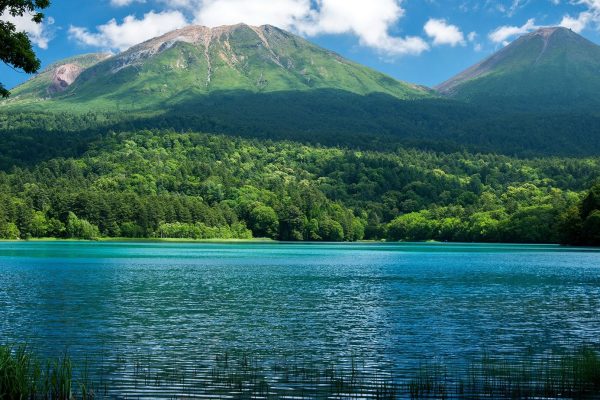
[{"label": "rippled turquoise lake water between far forest and near reeds", "polygon": [[[0,243],[0,338],[179,370],[223,352],[424,361],[600,345],[600,252],[472,244]],[[116,361],[115,361],[116,360]],[[119,380],[120,379],[120,380]],[[158,397],[154,393],[151,397]]]}]

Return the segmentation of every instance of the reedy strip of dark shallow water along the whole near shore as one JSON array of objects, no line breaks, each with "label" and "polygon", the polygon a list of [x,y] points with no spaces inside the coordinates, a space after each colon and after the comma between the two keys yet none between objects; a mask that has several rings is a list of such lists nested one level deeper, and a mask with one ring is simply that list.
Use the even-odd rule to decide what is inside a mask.
[{"label": "reedy strip of dark shallow water along the whole near shore", "polygon": [[[352,360],[349,365],[284,361],[264,363],[247,354],[222,354],[192,370],[156,367],[138,360],[130,366],[128,396],[187,398],[361,398],[361,399],[594,399],[600,396],[600,353],[591,348],[532,358],[487,355],[467,368],[422,365],[409,376],[374,372]],[[102,367],[104,368],[104,367]],[[100,370],[103,370],[100,368]],[[114,369],[111,367],[109,369]],[[87,365],[64,355],[40,361],[24,347],[0,347],[0,399],[92,399],[121,397],[123,381],[91,376]],[[179,393],[174,395],[173,393]],[[135,397],[135,396],[133,396]]]}]

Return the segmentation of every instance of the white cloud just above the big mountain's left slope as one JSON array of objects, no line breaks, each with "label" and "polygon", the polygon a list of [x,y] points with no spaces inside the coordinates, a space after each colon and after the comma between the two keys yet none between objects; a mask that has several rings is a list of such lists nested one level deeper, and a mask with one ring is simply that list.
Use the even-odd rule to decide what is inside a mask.
[{"label": "white cloud just above the big mountain's left slope", "polygon": [[186,25],[187,21],[179,11],[161,13],[151,11],[142,19],[136,19],[133,15],[129,15],[123,19],[121,24],[113,18],[108,23],[97,26],[97,32],[71,26],[69,37],[87,46],[126,50],[135,44]]}]

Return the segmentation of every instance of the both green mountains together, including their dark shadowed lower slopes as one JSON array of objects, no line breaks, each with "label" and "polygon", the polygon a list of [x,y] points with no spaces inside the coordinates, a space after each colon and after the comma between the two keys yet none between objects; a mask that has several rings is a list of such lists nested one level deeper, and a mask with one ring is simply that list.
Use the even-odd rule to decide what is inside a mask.
[{"label": "both green mountains together, including their dark shadowed lower slopes", "polygon": [[[573,32],[543,29],[436,93],[273,26],[190,26],[120,54],[64,60],[13,89],[0,101],[0,134],[16,155],[0,156],[0,168],[82,154],[106,132],[141,129],[369,150],[598,155],[598,59],[598,46]],[[56,137],[64,146],[53,146]]]}]

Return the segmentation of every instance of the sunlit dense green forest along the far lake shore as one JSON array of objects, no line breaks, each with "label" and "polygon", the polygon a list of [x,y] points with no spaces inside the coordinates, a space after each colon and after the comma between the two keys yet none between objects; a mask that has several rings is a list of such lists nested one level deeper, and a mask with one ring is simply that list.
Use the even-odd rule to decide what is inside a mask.
[{"label": "sunlit dense green forest along the far lake shore", "polygon": [[597,158],[360,151],[173,130],[47,135],[62,154],[3,153],[2,238],[598,240]]}]

